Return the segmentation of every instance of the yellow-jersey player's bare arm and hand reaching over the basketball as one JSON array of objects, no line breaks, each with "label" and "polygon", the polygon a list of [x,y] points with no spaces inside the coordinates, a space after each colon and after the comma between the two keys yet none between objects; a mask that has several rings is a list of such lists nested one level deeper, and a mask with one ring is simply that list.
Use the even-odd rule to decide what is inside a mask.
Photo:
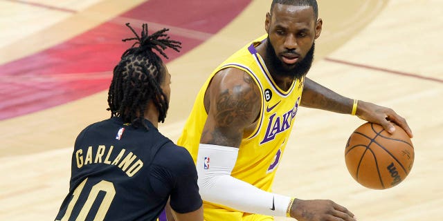
[{"label": "yellow-jersey player's bare arm and hand reaching over the basketball", "polygon": [[[352,104],[353,99],[338,95],[334,91],[305,77],[305,88],[303,88],[301,106],[318,108],[336,113],[351,113]],[[394,133],[395,127],[392,123],[395,123],[401,126],[410,137],[413,137],[413,133],[410,130],[406,119],[397,115],[397,113],[391,108],[359,100],[356,115],[365,121],[380,124],[389,133]]]}]

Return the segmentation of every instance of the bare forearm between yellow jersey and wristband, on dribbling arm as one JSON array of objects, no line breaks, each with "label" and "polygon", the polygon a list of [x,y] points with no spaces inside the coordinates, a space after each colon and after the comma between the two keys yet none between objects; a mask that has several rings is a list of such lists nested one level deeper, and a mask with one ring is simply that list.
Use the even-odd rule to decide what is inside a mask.
[{"label": "bare forearm between yellow jersey and wristband, on dribbling arm", "polygon": [[343,97],[305,77],[301,106],[335,113],[350,114],[352,112],[353,102],[353,99]]}]

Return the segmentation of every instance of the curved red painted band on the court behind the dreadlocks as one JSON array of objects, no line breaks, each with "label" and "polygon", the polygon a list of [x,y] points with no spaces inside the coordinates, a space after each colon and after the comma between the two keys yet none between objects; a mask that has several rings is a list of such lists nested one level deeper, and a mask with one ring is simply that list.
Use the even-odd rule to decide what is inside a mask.
[{"label": "curved red painted band on the court behind the dreadlocks", "polygon": [[[170,37],[182,42],[180,53],[168,50],[168,61],[184,55],[232,21],[251,0],[163,0],[142,3],[62,44],[0,66],[0,120],[41,111],[106,90],[112,70],[133,43],[125,26],[136,32],[154,23],[150,32],[171,27]],[[180,31],[194,35],[182,35]]]}]

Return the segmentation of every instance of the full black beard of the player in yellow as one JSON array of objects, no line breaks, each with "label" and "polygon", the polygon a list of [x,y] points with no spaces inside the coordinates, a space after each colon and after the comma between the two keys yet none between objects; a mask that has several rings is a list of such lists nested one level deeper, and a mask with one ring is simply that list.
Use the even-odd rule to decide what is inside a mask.
[{"label": "full black beard of the player in yellow", "polygon": [[[280,60],[275,53],[275,50],[271,44],[269,37],[267,38],[266,44],[266,57],[269,62],[266,63],[269,71],[271,71],[274,75],[282,76],[282,77],[293,77],[293,79],[301,79],[303,76],[307,74],[309,69],[311,69],[312,61],[314,61],[314,50],[315,50],[315,41],[311,46],[311,49],[307,52],[306,56],[298,61],[296,64],[289,66],[285,64],[282,60]],[[293,51],[283,51],[282,53],[293,52]]]}]

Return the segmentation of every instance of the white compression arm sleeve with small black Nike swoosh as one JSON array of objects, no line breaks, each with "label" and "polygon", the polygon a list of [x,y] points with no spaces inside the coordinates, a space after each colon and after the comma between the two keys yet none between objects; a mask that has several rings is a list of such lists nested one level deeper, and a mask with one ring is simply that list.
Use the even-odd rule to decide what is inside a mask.
[{"label": "white compression arm sleeve with small black Nike swoosh", "polygon": [[263,191],[230,176],[237,155],[238,148],[200,144],[197,173],[201,198],[237,211],[286,217],[291,198]]}]

